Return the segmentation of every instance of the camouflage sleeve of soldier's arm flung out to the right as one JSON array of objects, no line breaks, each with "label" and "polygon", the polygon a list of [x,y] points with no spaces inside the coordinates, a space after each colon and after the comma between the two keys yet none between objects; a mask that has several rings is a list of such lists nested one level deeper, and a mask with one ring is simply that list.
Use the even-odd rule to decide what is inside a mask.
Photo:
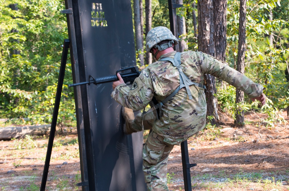
[{"label": "camouflage sleeve of soldier's arm flung out to the right", "polygon": [[[257,98],[263,93],[263,86],[253,82],[244,74],[228,66],[228,63],[218,60],[210,55],[203,54],[202,69],[204,74],[212,74],[237,89],[244,91],[249,98]],[[260,98],[261,99],[261,98]],[[262,96],[263,100],[263,96]]]}]

